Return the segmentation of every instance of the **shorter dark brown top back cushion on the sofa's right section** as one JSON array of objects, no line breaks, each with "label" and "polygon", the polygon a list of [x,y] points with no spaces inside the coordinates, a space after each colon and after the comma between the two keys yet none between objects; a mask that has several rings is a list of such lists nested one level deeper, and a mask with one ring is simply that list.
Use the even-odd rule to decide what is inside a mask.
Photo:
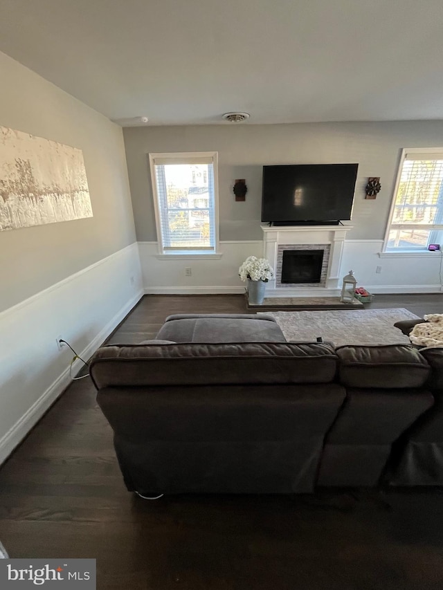
[{"label": "shorter dark brown top back cushion on the sofa's right section", "polygon": [[410,344],[343,346],[336,353],[340,382],[346,387],[410,389],[422,387],[431,373]]}]

